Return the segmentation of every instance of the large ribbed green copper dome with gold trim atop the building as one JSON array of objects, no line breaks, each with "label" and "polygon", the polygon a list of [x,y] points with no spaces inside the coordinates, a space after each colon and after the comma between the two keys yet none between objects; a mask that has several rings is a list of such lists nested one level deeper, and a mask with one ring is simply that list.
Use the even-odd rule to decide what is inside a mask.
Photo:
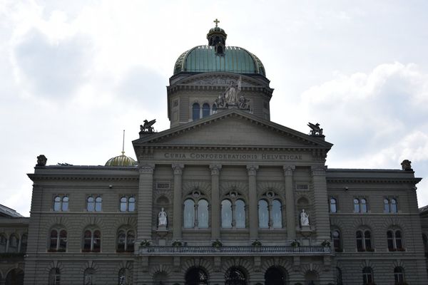
[{"label": "large ribbed green copper dome with gold trim atop the building", "polygon": [[238,46],[226,46],[221,55],[215,52],[214,46],[195,46],[182,53],[175,61],[174,74],[216,71],[266,76],[262,61]]}]

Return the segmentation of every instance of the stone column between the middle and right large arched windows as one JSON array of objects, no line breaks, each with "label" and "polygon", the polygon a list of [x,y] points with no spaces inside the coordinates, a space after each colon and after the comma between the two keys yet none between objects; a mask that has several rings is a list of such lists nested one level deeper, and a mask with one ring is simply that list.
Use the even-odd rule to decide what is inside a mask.
[{"label": "stone column between the middle and right large arched windows", "polygon": [[248,165],[248,204],[250,240],[258,239],[258,201],[257,201],[257,170],[258,165]]}]

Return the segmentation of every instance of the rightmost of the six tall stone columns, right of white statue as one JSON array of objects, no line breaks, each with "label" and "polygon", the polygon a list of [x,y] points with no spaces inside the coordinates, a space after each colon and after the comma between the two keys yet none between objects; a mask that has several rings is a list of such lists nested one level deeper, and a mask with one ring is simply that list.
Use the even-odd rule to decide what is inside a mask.
[{"label": "rightmost of the six tall stone columns, right of white statue", "polygon": [[[315,227],[317,229],[317,238],[320,240],[330,239],[330,217],[328,207],[325,207],[327,197],[327,180],[325,177],[325,166],[312,166],[312,185],[314,193],[314,209],[312,217],[315,214]],[[309,217],[310,223],[314,224],[314,219]]]}]

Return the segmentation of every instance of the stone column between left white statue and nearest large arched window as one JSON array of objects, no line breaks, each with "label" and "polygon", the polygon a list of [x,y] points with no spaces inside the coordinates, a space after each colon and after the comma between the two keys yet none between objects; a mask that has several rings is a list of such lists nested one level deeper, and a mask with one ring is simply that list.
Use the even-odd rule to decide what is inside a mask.
[{"label": "stone column between left white statue and nearest large arched window", "polygon": [[174,172],[174,198],[173,198],[173,239],[181,240],[181,224],[183,223],[183,168],[184,165],[172,165]]}]

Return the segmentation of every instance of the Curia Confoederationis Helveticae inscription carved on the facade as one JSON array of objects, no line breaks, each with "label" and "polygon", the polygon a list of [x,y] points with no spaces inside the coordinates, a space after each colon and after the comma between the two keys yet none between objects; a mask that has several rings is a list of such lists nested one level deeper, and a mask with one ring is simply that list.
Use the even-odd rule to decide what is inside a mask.
[{"label": "Curia Confoederationis Helveticae inscription carved on the facade", "polygon": [[246,154],[246,153],[204,153],[204,152],[165,152],[166,159],[192,160],[302,160],[302,155],[290,154]]}]

